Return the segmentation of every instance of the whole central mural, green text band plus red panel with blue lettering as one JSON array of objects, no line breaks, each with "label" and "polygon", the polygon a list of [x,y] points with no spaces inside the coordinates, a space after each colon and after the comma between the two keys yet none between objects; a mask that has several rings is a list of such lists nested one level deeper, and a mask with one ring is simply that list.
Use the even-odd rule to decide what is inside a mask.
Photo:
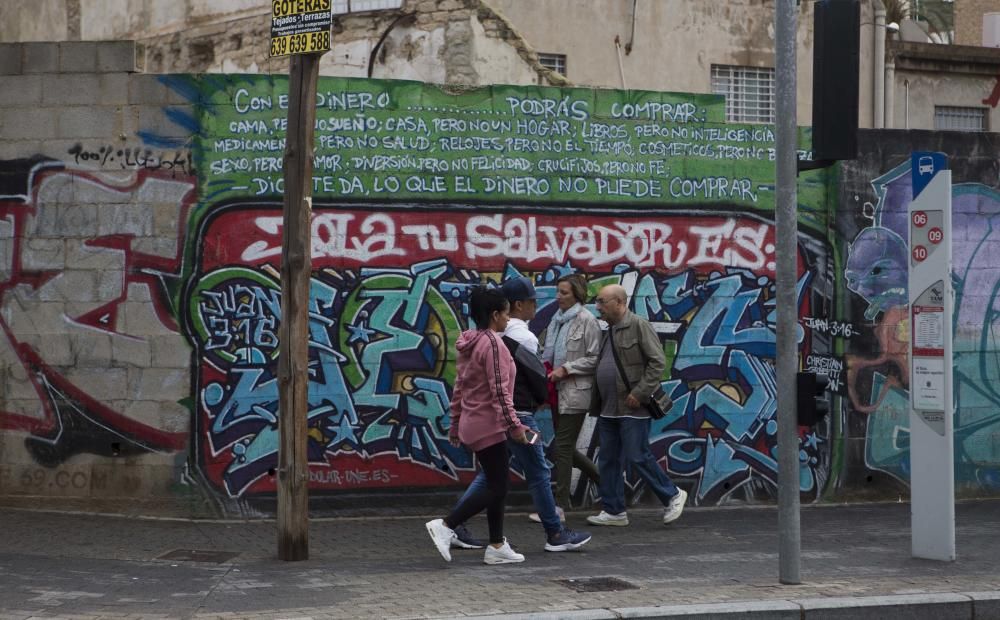
[{"label": "whole central mural, green text band plus red panel with blue lettering", "polygon": [[[196,104],[201,204],[178,306],[195,349],[193,457],[221,496],[274,493],[284,82],[177,79]],[[677,402],[654,450],[697,501],[774,491],[773,133],[706,96],[508,87],[463,95],[321,80],[313,176],[309,453],[315,493],[451,488],[454,342],[470,288],[621,283],[662,335]],[[829,192],[803,184],[801,308],[828,308]],[[593,310],[593,309],[592,309]],[[825,312],[826,310],[824,310]],[[804,354],[830,334],[802,330]],[[539,412],[547,428],[548,412]],[[829,475],[803,429],[802,490]],[[583,447],[592,454],[591,429]],[[514,472],[516,475],[516,471]],[[592,489],[580,485],[577,499]],[[636,488],[636,495],[641,489]]]}]

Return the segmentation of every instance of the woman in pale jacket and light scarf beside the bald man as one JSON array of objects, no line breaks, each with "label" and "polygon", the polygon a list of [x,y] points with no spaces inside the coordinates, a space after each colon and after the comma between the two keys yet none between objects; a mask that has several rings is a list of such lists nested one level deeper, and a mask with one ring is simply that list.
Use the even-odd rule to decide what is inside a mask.
[{"label": "woman in pale jacket and light scarf beside the bald man", "polygon": [[601,347],[597,319],[584,307],[587,281],[581,275],[559,278],[556,304],[559,310],[546,330],[542,358],[551,364],[549,380],[559,394],[559,416],[555,436],[556,505],[570,508],[570,478],[575,466],[596,485],[597,466],[576,449],[576,440],[590,408],[594,373]]}]

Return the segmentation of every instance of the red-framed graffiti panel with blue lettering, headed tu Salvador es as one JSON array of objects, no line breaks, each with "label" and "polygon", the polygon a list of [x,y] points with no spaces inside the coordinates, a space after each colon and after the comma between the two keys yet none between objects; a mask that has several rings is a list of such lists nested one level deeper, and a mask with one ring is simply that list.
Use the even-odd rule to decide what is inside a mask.
[{"label": "red-framed graffiti panel with blue lettering, headed tu Salvador es", "polygon": [[[765,253],[773,246],[772,224],[746,216],[649,211],[631,216],[562,209],[532,215],[477,212],[317,209],[314,227],[339,221],[347,239],[367,228],[397,231],[393,238],[404,242],[391,254],[336,252],[314,259],[313,488],[439,486],[469,473],[468,453],[447,441],[454,342],[468,325],[470,287],[517,275],[529,275],[538,287],[539,314],[532,328],[540,333],[556,310],[555,281],[561,275],[586,274],[594,294],[609,283],[632,292],[635,310],[656,323],[674,358],[669,378],[677,416],[665,421],[658,442],[664,454],[673,450],[683,461],[679,472],[715,475],[710,463],[705,469],[709,428],[717,438],[725,433],[733,443],[745,444],[750,454],[757,442],[770,441],[766,450],[773,448],[773,428],[770,433],[767,428],[774,415],[773,373],[761,361],[774,355],[768,307],[774,265]],[[199,276],[183,303],[201,362],[199,457],[213,485],[233,496],[273,491],[268,472],[277,462],[278,270],[276,256],[261,249],[275,239],[249,240],[260,239],[261,230],[279,234],[280,219],[276,206],[235,203],[219,209],[203,227],[198,242],[203,252],[195,263]],[[503,230],[518,231],[520,238],[504,236]],[[418,240],[405,241],[408,235]],[[425,235],[429,240],[421,243]],[[627,259],[621,247],[628,243],[626,235],[636,240],[634,247],[638,239],[653,246],[659,238],[655,264]],[[520,260],[516,251],[497,251],[546,243],[551,245],[544,252],[533,250]],[[608,251],[608,245],[618,249]],[[567,250],[553,256],[555,247]],[[616,259],[615,252],[622,257]],[[227,261],[234,256],[240,258],[236,264]],[[813,288],[812,273],[804,268],[810,258],[824,260],[803,251],[803,297]],[[735,260],[745,265],[734,267]],[[773,480],[772,459],[754,465]],[[810,467],[811,491],[813,479],[822,478],[816,469]],[[746,482],[750,470],[741,471],[740,482]],[[726,473],[726,480],[713,479],[711,489],[704,489],[706,497],[732,482],[734,472]]]}]

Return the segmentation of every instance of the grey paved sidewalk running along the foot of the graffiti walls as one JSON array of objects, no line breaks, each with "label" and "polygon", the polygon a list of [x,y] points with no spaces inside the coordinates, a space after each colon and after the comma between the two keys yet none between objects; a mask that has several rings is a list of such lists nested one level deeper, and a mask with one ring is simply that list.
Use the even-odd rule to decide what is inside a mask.
[{"label": "grey paved sidewalk running along the foot of the graffiti walls", "polygon": [[[586,514],[570,514],[570,526],[583,529]],[[285,563],[275,559],[274,522],[0,509],[0,620],[886,620],[972,618],[973,609],[977,620],[1000,618],[1000,500],[958,504],[954,563],[910,557],[908,504],[804,507],[800,586],[778,584],[776,509],[688,509],[672,526],[659,515],[630,511],[629,527],[591,528],[594,539],[582,551],[546,553],[540,526],[509,513],[507,536],[527,560],[486,566],[483,552],[471,550],[455,550],[445,563],[425,518],[314,520],[311,559]],[[485,520],[472,529],[485,535]],[[198,561],[162,559],[175,551],[198,551]],[[573,589],[607,585],[607,578],[633,587]]]}]

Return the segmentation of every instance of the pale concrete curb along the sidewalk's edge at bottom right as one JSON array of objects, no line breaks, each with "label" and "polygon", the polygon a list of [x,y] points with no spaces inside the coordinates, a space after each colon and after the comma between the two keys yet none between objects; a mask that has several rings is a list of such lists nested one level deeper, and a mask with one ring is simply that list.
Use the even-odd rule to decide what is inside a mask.
[{"label": "pale concrete curb along the sidewalk's edge at bottom right", "polygon": [[[776,599],[462,616],[462,620],[1000,620],[1000,591]],[[457,620],[455,618],[454,620]]]}]

